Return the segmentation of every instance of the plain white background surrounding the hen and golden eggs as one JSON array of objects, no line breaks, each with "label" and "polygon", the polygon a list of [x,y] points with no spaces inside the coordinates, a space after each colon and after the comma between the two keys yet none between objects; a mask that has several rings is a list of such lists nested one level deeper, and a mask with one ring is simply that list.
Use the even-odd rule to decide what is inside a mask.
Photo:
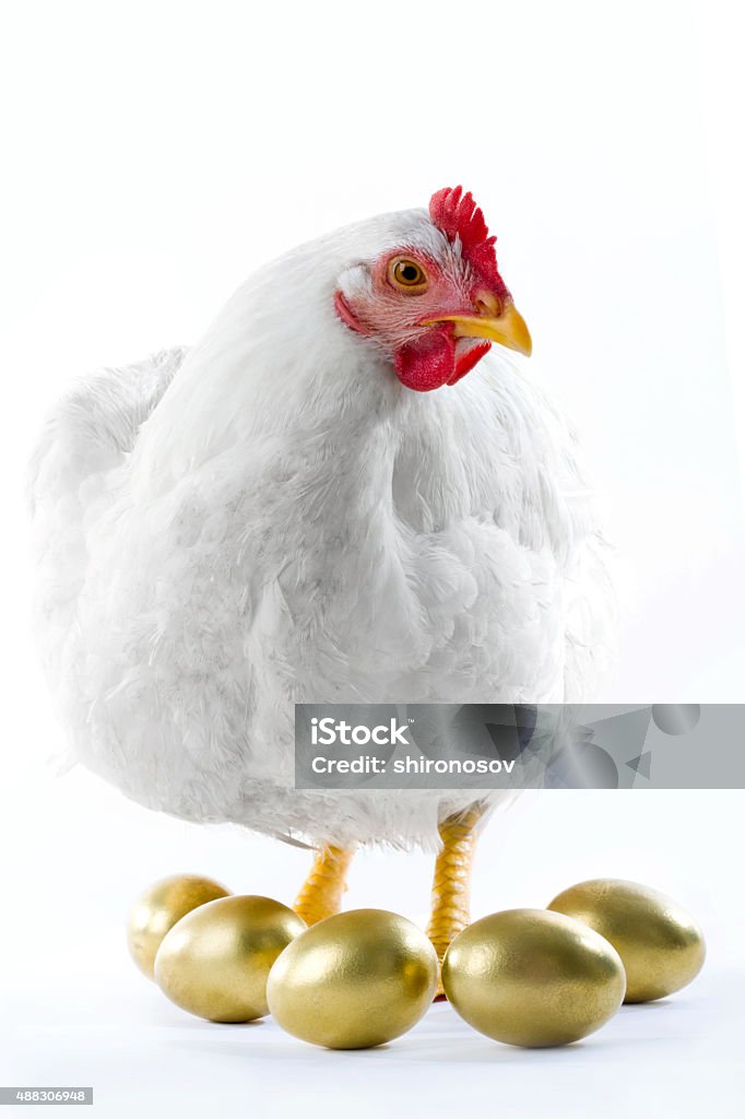
[{"label": "plain white background surrounding the hen and golden eggs", "polygon": [[[194,341],[268,256],[462,181],[607,498],[624,631],[605,698],[745,698],[738,7],[3,4],[0,1082],[94,1084],[105,1116],[735,1113],[739,791],[535,794],[491,825],[477,913],[607,874],[708,932],[696,985],[583,1045],[498,1046],[438,1006],[386,1050],[330,1054],[166,1003],[124,955],[131,897],[188,869],[290,902],[307,857],[45,769],[62,732],[20,490],[72,377]],[[425,920],[428,874],[367,853],[348,905]]]}]

